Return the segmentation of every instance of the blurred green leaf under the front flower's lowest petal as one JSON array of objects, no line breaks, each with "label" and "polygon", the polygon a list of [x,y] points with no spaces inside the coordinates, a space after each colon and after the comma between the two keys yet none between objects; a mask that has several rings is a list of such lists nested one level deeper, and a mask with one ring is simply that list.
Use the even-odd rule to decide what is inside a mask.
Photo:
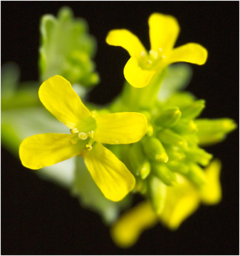
[{"label": "blurred green leaf under the front flower's lowest petal", "polygon": [[76,169],[72,187],[73,196],[79,197],[82,207],[92,209],[103,216],[106,223],[113,223],[119,215],[119,210],[127,207],[130,196],[119,202],[113,202],[105,198],[95,184],[94,180],[84,164],[84,159],[76,157]]}]

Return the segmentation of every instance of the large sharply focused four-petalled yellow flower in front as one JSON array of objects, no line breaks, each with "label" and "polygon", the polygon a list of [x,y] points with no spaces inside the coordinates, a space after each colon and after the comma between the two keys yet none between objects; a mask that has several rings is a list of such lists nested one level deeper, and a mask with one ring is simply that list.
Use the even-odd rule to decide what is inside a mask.
[{"label": "large sharply focused four-petalled yellow flower in front", "polygon": [[124,198],[135,186],[135,178],[101,143],[137,142],[148,127],[145,116],[134,112],[96,116],[81,102],[63,76],[44,81],[39,88],[39,98],[49,112],[71,129],[71,134],[47,133],[27,137],[19,151],[23,165],[40,169],[81,155],[105,197],[112,201]]}]

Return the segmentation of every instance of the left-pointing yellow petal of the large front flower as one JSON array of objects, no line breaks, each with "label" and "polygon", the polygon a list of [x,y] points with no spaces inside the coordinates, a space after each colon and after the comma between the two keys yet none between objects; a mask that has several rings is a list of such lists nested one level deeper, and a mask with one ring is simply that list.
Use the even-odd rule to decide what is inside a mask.
[{"label": "left-pointing yellow petal of the large front flower", "polygon": [[71,143],[75,138],[76,135],[57,133],[27,137],[19,148],[20,160],[25,167],[40,169],[71,159],[80,154],[84,148],[80,140],[76,144]]}]

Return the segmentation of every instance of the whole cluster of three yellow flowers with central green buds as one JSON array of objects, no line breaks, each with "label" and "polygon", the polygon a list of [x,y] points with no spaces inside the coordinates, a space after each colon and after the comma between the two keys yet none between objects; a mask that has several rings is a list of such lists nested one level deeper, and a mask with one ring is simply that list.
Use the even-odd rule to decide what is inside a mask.
[{"label": "whole cluster of three yellow flowers with central green buds", "polygon": [[220,142],[236,128],[231,119],[199,119],[205,101],[188,92],[159,98],[168,66],[203,65],[207,49],[195,43],[174,49],[180,31],[175,17],[153,13],[148,25],[149,51],[126,29],[108,33],[107,43],[130,55],[123,92],[108,108],[89,111],[69,81],[52,76],[41,84],[39,98],[70,132],[33,135],[20,145],[25,167],[82,156],[106,199],[121,201],[131,191],[143,196],[111,228],[120,247],[134,244],[158,221],[175,230],[200,203],[220,201],[220,161],[201,146]]}]

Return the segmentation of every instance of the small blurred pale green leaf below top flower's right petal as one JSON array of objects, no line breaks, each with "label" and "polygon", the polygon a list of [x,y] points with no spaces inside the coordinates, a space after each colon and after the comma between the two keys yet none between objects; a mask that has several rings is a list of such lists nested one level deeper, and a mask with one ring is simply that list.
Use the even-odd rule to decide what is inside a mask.
[{"label": "small blurred pale green leaf below top flower's right petal", "polygon": [[169,65],[167,76],[161,84],[158,100],[165,101],[180,89],[185,89],[191,81],[191,66],[185,63]]}]

